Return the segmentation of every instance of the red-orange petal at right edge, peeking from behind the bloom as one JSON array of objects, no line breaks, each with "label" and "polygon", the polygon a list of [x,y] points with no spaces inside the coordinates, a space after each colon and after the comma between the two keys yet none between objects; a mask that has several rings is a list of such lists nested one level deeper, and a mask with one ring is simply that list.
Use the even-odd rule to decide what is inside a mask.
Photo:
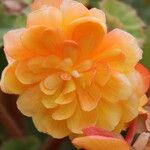
[{"label": "red-orange petal at right edge, peeking from behind the bloom", "polygon": [[146,92],[150,87],[150,72],[142,64],[137,64],[135,69],[140,73],[142,77],[144,92]]}]

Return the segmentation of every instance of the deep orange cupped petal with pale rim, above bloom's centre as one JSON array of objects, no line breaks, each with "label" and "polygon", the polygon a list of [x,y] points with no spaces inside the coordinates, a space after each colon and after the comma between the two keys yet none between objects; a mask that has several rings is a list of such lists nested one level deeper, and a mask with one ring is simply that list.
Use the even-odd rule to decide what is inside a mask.
[{"label": "deep orange cupped petal with pale rim, above bloom's centre", "polygon": [[84,17],[71,22],[67,32],[68,36],[79,44],[81,58],[86,58],[100,44],[106,28],[97,18]]}]

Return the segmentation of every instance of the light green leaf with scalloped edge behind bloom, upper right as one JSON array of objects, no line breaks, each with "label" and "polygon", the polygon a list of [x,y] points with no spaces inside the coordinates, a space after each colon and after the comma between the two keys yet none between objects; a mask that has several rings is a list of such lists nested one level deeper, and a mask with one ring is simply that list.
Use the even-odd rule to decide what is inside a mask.
[{"label": "light green leaf with scalloped edge behind bloom, upper right", "polygon": [[106,13],[110,29],[126,30],[135,36],[141,45],[144,43],[145,24],[134,8],[118,0],[103,0],[100,6]]}]

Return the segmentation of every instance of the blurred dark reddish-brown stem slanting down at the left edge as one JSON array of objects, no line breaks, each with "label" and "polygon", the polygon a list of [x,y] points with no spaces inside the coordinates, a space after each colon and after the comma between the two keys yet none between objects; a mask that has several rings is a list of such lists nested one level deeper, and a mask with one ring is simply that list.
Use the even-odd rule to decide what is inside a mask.
[{"label": "blurred dark reddish-brown stem slanting down at the left edge", "polygon": [[1,102],[0,102],[0,122],[7,129],[10,136],[16,138],[20,138],[23,136],[22,131],[18,128],[17,124],[9,115],[9,113],[6,111],[5,107]]}]

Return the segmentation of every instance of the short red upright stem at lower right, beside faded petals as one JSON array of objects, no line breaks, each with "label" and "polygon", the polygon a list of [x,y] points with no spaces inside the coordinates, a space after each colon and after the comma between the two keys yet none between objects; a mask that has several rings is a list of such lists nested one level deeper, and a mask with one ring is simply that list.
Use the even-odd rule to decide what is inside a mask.
[{"label": "short red upright stem at lower right, beside faded petals", "polygon": [[133,121],[131,121],[129,128],[128,128],[128,132],[127,135],[125,137],[125,140],[131,144],[132,140],[134,138],[135,132],[136,132],[136,125],[137,125],[137,119],[134,119]]}]

